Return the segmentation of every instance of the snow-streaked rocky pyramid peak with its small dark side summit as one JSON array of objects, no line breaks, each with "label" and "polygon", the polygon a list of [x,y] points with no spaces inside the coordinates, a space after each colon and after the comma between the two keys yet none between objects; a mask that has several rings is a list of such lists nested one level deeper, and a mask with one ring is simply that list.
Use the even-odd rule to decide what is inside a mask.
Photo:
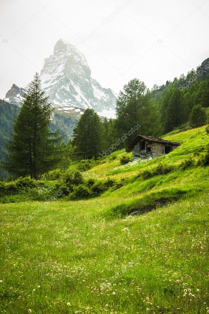
[{"label": "snow-streaked rocky pyramid peak with its small dark side summit", "polygon": [[[78,108],[78,113],[79,108],[93,108],[101,116],[114,116],[117,95],[91,78],[84,55],[64,39],[57,41],[53,55],[44,60],[40,75],[52,106],[69,112]],[[23,92],[27,92],[27,86],[23,89],[13,84],[4,100],[19,105]]]}]

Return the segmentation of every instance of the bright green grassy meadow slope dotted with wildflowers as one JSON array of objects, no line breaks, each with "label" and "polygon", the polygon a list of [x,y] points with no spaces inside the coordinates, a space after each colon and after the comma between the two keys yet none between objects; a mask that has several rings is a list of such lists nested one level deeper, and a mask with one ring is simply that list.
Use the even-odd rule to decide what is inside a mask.
[{"label": "bright green grassy meadow slope dotted with wildflowers", "polygon": [[[201,127],[165,138],[182,143],[169,158],[114,170],[119,157],[111,155],[87,172],[130,181],[117,191],[85,201],[0,205],[1,311],[207,313],[209,167],[149,180],[136,175],[160,160],[179,164],[209,137]],[[147,214],[114,216],[118,204],[178,191],[180,200]]]}]

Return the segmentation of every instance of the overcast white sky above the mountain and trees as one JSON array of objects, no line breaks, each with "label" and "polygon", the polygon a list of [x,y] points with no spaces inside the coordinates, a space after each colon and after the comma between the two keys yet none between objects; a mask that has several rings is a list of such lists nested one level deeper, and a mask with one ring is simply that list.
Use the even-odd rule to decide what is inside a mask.
[{"label": "overcast white sky above the mountain and trees", "polygon": [[209,0],[0,0],[0,98],[27,85],[60,38],[102,87],[118,93],[137,77],[152,88],[209,57],[208,26]]}]

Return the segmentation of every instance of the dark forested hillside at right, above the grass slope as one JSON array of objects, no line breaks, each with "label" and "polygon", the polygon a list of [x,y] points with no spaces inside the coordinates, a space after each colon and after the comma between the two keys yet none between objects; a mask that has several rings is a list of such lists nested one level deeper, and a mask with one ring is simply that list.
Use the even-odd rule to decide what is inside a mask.
[{"label": "dark forested hillside at right, above the grass slope", "polygon": [[199,127],[209,123],[209,58],[185,76],[154,85],[153,97],[161,113],[164,133],[175,127]]}]

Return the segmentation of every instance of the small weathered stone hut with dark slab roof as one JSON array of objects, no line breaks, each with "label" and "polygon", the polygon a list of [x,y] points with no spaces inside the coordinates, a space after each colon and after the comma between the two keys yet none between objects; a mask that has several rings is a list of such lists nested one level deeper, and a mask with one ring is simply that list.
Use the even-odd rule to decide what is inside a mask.
[{"label": "small weathered stone hut with dark slab roof", "polygon": [[157,158],[172,152],[180,143],[166,141],[162,138],[137,135],[129,148],[132,149],[132,160],[137,158]]}]

